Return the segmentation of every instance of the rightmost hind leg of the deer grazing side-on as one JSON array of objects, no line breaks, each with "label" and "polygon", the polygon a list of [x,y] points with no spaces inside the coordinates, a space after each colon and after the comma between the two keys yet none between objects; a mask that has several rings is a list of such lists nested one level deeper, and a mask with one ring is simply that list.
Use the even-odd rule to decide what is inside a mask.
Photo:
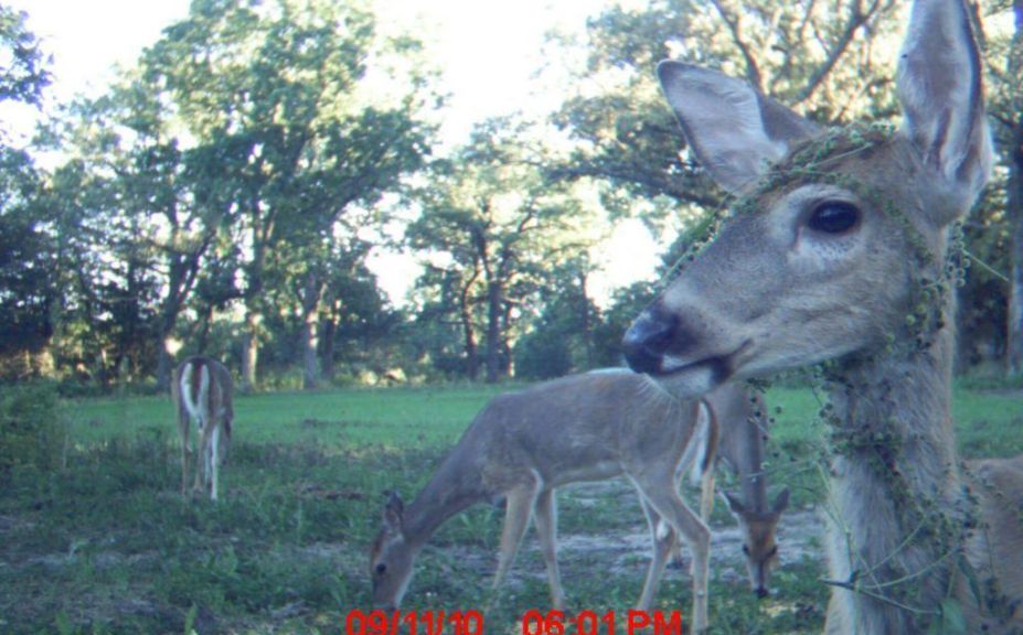
[{"label": "rightmost hind leg of the deer grazing side-on", "polygon": [[654,512],[668,520],[685,540],[693,555],[693,633],[702,633],[707,627],[711,531],[679,496],[672,473],[673,467],[670,467],[667,477],[657,478],[646,474],[633,477],[633,483]]}]

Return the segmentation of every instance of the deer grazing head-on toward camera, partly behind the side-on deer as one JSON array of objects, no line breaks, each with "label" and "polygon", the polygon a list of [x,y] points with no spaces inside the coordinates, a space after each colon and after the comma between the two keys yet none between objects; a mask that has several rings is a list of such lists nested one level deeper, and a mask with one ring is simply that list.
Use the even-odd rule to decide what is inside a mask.
[{"label": "deer grazing head-on toward camera, partly behind the side-on deer", "polygon": [[[700,480],[700,516],[710,524],[714,505],[714,465],[723,463],[739,480],[740,496],[722,491],[728,509],[739,525],[743,555],[749,585],[758,598],[766,598],[771,570],[778,566],[776,532],[781,514],[789,505],[789,489],[778,493],[774,504],[767,499],[767,476],[764,473],[764,444],[767,441],[767,405],[764,398],[739,384],[725,384],[705,396],[721,424],[716,461],[701,459],[692,463],[708,470],[694,472]],[[690,448],[704,448],[695,441]],[[685,464],[683,460],[683,465]],[[674,541],[673,549],[678,549]],[[673,553],[680,560],[679,553]]]}]

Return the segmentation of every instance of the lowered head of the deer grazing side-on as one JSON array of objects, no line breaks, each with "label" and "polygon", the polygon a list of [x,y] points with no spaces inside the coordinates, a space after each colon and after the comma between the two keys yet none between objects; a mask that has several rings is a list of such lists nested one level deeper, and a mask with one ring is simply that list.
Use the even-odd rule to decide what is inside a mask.
[{"label": "lowered head of the deer grazing side-on", "polygon": [[403,531],[404,504],[392,494],[384,507],[384,523],[370,548],[373,606],[397,609],[402,604],[415,564],[415,549]]}]

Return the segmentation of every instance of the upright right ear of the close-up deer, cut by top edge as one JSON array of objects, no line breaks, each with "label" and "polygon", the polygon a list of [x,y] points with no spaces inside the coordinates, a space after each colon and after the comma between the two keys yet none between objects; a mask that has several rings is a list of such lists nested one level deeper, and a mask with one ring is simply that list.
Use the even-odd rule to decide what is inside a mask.
[{"label": "upright right ear of the close-up deer, cut by top edge", "polygon": [[965,214],[991,172],[981,64],[962,0],[913,4],[898,63],[903,132],[955,194],[942,224]]}]

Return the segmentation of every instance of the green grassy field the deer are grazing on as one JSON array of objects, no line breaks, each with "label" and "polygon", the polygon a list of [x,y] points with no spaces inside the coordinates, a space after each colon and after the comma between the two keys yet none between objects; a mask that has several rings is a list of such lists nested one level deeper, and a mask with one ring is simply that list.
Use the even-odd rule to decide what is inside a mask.
[{"label": "green grassy field the deer are grazing on", "polygon": [[[178,493],[168,400],[65,402],[62,467],[14,470],[0,495],[0,633],[342,632],[348,611],[367,603],[366,548],[385,493],[411,499],[497,391],[242,397],[215,505]],[[791,486],[793,509],[809,516],[821,496],[823,431],[809,423],[819,403],[798,389],[768,399],[781,407],[772,482]],[[1019,394],[958,390],[956,418],[967,456],[1023,452]],[[560,503],[562,537],[596,545],[563,555],[571,610],[626,610],[647,559],[646,547],[615,546],[616,536],[644,531],[635,496],[621,484],[590,486],[568,488]],[[479,610],[493,600],[487,633],[519,633],[526,610],[545,611],[532,536],[504,592],[488,593],[501,516],[478,507],[445,525],[419,560],[405,609]],[[715,528],[729,524],[718,509]],[[714,633],[819,632],[822,572],[816,557],[786,558],[774,596],[757,602],[744,581],[715,571]],[[688,612],[688,580],[670,572],[662,609]]]}]

